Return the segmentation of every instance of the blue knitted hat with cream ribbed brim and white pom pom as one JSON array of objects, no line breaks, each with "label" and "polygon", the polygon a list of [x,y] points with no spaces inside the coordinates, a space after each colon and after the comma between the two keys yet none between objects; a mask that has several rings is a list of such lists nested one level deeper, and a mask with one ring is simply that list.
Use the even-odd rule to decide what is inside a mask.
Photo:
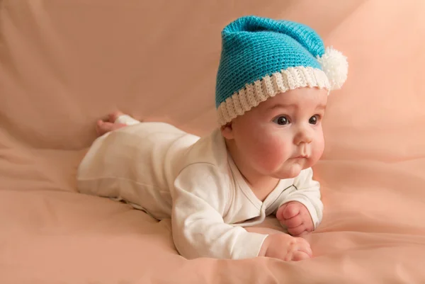
[{"label": "blue knitted hat with cream ribbed brim and white pom pom", "polygon": [[292,21],[244,16],[222,30],[215,106],[220,125],[290,89],[339,89],[348,62],[325,48],[312,28]]}]

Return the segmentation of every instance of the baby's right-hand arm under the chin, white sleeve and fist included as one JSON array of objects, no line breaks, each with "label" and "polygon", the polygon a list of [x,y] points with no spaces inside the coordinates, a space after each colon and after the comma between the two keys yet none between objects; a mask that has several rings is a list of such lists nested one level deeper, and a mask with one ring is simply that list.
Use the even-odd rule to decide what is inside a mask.
[{"label": "baby's right-hand arm under the chin, white sleeve and fist included", "polygon": [[283,195],[276,217],[288,232],[295,236],[311,232],[322,222],[323,203],[320,200],[320,184],[314,181],[311,168],[305,169],[294,180],[290,192]]}]

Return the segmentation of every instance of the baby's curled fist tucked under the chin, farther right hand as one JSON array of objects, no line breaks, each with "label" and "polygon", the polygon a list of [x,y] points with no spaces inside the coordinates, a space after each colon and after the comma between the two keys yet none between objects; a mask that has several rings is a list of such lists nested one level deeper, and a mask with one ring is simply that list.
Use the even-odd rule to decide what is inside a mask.
[{"label": "baby's curled fist tucked under the chin, farther right hand", "polygon": [[314,230],[312,217],[304,205],[297,201],[285,203],[276,212],[280,224],[288,228],[288,233],[299,237]]}]

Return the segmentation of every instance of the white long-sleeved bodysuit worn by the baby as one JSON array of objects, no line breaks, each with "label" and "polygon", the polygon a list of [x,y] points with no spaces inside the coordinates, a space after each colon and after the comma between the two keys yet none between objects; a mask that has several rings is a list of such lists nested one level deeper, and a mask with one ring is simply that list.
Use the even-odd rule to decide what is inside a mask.
[{"label": "white long-sleeved bodysuit worn by the baby", "polygon": [[158,220],[171,218],[174,244],[187,259],[258,256],[266,234],[246,232],[290,201],[322,220],[312,169],[280,180],[261,202],[229,156],[219,129],[197,137],[166,123],[139,123],[98,137],[78,169],[81,193],[120,198]]}]

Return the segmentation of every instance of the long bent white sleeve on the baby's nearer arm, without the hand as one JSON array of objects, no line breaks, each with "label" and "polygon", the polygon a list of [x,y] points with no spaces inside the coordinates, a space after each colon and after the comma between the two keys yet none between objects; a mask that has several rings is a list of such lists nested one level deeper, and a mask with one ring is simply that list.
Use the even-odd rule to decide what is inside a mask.
[{"label": "long bent white sleeve on the baby's nearer arm, without the hand", "polygon": [[249,259],[268,235],[225,224],[229,184],[211,164],[192,164],[174,183],[171,213],[174,244],[186,259]]}]

